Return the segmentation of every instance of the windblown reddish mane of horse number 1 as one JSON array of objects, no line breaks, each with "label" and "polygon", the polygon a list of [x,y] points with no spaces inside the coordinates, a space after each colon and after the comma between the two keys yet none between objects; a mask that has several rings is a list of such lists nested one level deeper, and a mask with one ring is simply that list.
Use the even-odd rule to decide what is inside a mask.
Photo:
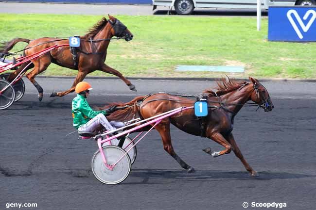
[{"label": "windblown reddish mane of horse number 1", "polygon": [[216,94],[214,91],[210,89],[205,89],[203,93],[208,94],[209,96],[222,96],[224,94],[230,93],[231,91],[237,90],[242,86],[246,85],[246,81],[237,81],[235,78],[222,77],[220,81],[217,81],[217,87],[214,87]]}]

